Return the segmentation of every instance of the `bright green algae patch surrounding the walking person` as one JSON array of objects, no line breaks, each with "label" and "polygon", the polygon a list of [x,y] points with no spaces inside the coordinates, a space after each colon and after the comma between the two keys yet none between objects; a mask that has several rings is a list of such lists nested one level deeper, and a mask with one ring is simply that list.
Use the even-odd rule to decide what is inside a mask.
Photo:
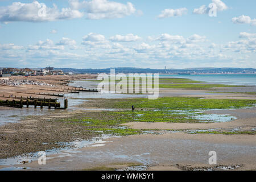
[{"label": "bright green algae patch surrounding the walking person", "polygon": [[[114,134],[138,134],[142,131],[118,127],[122,123],[129,122],[167,122],[167,123],[202,123],[220,122],[211,119],[210,114],[201,113],[209,109],[239,109],[254,106],[254,100],[206,100],[201,98],[164,97],[158,100],[145,98],[131,98],[123,100],[97,99],[89,100],[80,107],[113,108],[119,111],[101,111],[100,113],[77,119],[81,125],[94,126],[90,129]],[[132,113],[131,105],[135,106]],[[195,114],[196,113],[196,114]],[[232,121],[232,116],[221,115],[221,119]],[[106,126],[107,129],[106,129]],[[109,129],[110,127],[110,129]]]}]

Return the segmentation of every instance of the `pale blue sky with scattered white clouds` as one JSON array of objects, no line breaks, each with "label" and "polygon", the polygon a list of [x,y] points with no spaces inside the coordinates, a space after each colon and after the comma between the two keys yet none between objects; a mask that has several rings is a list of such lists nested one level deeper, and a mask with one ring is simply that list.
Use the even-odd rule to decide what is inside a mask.
[{"label": "pale blue sky with scattered white clouds", "polygon": [[255,0],[0,0],[0,67],[256,68]]}]

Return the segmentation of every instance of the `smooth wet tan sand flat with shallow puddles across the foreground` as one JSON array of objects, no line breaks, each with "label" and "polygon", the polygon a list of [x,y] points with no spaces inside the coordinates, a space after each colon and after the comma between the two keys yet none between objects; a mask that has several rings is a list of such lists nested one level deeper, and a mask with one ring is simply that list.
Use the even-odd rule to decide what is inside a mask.
[{"label": "smooth wet tan sand flat with shallow puddles across the foreground", "polygon": [[[218,165],[240,165],[240,170],[255,169],[255,136],[192,135],[172,133],[163,135],[133,135],[110,138],[104,146],[84,147],[73,152],[47,156],[46,165],[36,161],[21,165],[30,169],[79,170],[113,163],[141,163],[147,169],[162,169],[161,165],[207,167],[209,151],[217,152]],[[180,169],[168,167],[167,170]]]}]

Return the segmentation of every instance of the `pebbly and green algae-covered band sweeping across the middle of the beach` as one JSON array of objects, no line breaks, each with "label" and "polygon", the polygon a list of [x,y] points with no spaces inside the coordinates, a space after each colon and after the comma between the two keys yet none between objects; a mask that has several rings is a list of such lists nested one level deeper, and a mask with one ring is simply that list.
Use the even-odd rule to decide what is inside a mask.
[{"label": "pebbly and green algae-covered band sweeping across the middle of the beach", "polygon": [[[27,122],[2,126],[1,146],[8,145],[9,147],[1,147],[1,154],[3,154],[1,157],[24,154],[38,149],[48,150],[52,147],[60,147],[58,143],[61,142],[90,139],[102,134],[113,136],[146,134],[143,129],[121,126],[121,124],[129,122],[216,122],[214,119],[207,118],[202,121],[193,113],[209,109],[240,109],[252,107],[255,104],[255,100],[207,100],[191,97],[163,97],[158,98],[158,100],[147,100],[146,98],[87,99],[80,107],[85,109],[92,106],[94,108],[112,108],[115,111],[80,110],[73,114],[60,114],[58,117],[53,117],[53,115],[48,117],[34,116],[26,118]],[[135,113],[131,112],[132,105],[135,106]],[[199,113],[199,115],[204,114]],[[28,129],[29,133],[27,133]],[[46,133],[42,133],[42,130]],[[25,146],[29,145],[29,147],[24,147],[24,143]]]}]

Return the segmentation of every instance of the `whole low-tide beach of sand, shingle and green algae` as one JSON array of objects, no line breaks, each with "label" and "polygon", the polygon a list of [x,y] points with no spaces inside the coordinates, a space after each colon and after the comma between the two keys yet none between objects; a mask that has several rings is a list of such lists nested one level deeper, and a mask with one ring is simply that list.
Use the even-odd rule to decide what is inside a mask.
[{"label": "whole low-tide beach of sand, shingle and green algae", "polygon": [[[69,84],[70,88],[72,84],[76,86],[84,84],[84,86],[96,88],[97,83],[81,81],[84,78],[74,77],[65,78],[65,80],[74,81]],[[59,84],[66,82],[63,78],[58,79]],[[53,84],[52,80],[49,80],[50,78],[43,82]],[[80,81],[76,82],[76,80]],[[183,109],[185,115],[181,114],[182,110],[179,109],[181,106],[178,109],[172,109],[172,112],[179,110],[178,113],[174,112],[170,115],[165,107],[148,108],[148,105],[143,105],[146,102],[143,95],[117,94],[106,98],[96,93],[90,96],[88,93],[68,93],[67,98],[71,102],[68,110],[51,110],[49,113],[32,116],[28,113],[18,122],[4,123],[0,126],[0,167],[14,170],[256,169],[254,105],[256,97],[255,94],[246,93],[247,90],[255,89],[254,86],[228,88],[225,85],[223,87],[214,85],[216,87],[203,89],[196,86],[191,88],[192,84],[187,88],[188,84],[184,84],[184,88],[172,88],[176,86],[172,81],[172,84],[167,84],[170,88],[160,88],[159,103],[174,106],[172,102],[176,104],[183,100],[198,102],[198,108],[193,109],[204,109],[203,114],[213,114],[214,117],[221,115],[220,119],[228,118],[228,120],[214,122],[209,119],[206,121],[207,119],[204,118],[205,120],[201,121],[198,118],[201,113],[195,114],[197,110],[193,110],[195,115],[186,113],[191,109],[188,107],[188,109]],[[50,88],[51,86],[43,85],[43,87]],[[68,88],[68,86],[64,87]],[[25,85],[19,88],[3,86],[0,96],[12,93],[29,97],[28,94],[18,95],[17,92],[20,90],[40,92],[40,89],[42,86],[39,85]],[[237,92],[237,89],[243,92]],[[223,90],[228,90],[229,93],[224,93]],[[166,100],[166,103],[163,100]],[[245,100],[250,102],[243,102]],[[129,104],[126,107],[126,105],[119,104],[120,101],[137,103],[135,105],[137,115],[130,116]],[[213,104],[209,106],[205,105],[205,102]],[[223,109],[221,109],[222,104]],[[137,105],[141,107],[136,107]],[[201,105],[205,106],[200,107]],[[230,106],[236,106],[236,108]],[[156,110],[156,113],[152,113],[152,109]],[[159,113],[157,113],[158,109],[161,110]],[[0,107],[0,110],[15,109]],[[159,114],[163,116],[159,118]],[[155,118],[155,122],[150,121],[149,118]],[[163,118],[169,120],[160,122]],[[111,125],[106,122],[113,120],[115,122]],[[212,150],[217,152],[218,163],[215,166],[208,164],[208,152]],[[47,165],[37,163],[36,152],[38,151],[49,151],[47,152]]]}]

